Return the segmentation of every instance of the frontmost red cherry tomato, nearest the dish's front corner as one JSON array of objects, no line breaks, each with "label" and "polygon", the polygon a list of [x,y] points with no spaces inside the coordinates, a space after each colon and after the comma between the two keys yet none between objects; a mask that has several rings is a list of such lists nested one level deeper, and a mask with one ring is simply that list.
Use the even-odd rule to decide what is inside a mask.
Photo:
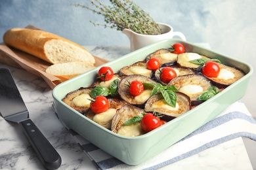
[{"label": "frontmost red cherry tomato, nearest the dish's front corner", "polygon": [[160,118],[154,116],[152,113],[147,113],[143,116],[142,120],[140,121],[140,125],[142,129],[146,132],[152,131],[157,127],[161,126]]}]

